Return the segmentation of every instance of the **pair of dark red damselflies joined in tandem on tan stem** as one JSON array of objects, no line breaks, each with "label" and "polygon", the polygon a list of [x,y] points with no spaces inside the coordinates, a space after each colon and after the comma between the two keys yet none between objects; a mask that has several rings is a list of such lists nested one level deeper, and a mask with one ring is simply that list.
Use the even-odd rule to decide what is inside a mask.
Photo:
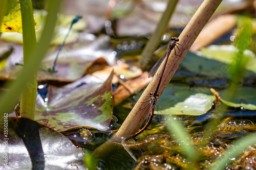
[{"label": "pair of dark red damselflies joined in tandem on tan stem", "polygon": [[[150,101],[150,102],[148,102],[146,104],[146,106],[142,108],[142,109],[146,108],[151,103],[151,110],[150,110],[150,112],[148,112],[147,123],[139,132],[137,132],[134,135],[134,137],[139,135],[143,131],[145,131],[147,129],[147,127],[150,126],[150,124],[151,124],[151,121],[152,121],[152,119],[154,117],[155,105],[157,104],[157,100],[159,99],[158,89],[159,89],[159,86],[160,86],[160,83],[161,83],[161,80],[162,80],[162,77],[163,77],[163,73],[164,73],[164,70],[165,70],[165,67],[166,67],[166,64],[167,64],[170,52],[174,49],[175,55],[176,56],[180,56],[180,55],[176,54],[176,50],[175,50],[175,46],[177,46],[176,44],[179,44],[179,43],[177,43],[178,41],[179,41],[179,39],[176,38],[176,37],[172,37],[171,38],[171,41],[168,44],[167,50],[160,57],[160,59],[157,61],[157,63],[151,68],[151,70],[150,70],[150,72],[148,74],[148,78],[153,77],[156,74],[156,71],[159,68],[159,66],[162,64],[163,60],[166,58],[164,66],[163,66],[162,74],[161,74],[161,76],[159,78],[159,81],[158,81],[158,84],[157,84],[157,88],[156,88],[154,93],[151,92],[150,95],[146,95],[147,97],[150,97],[150,99],[146,100],[145,102],[148,102],[148,101]],[[179,45],[181,45],[181,44],[179,44]],[[178,46],[177,46],[177,48],[179,49],[179,51],[184,50],[184,48],[180,49]],[[142,103],[145,103],[145,102],[142,102]],[[142,110],[142,109],[140,109],[140,110]],[[140,111],[140,110],[138,110],[138,111]]]}]

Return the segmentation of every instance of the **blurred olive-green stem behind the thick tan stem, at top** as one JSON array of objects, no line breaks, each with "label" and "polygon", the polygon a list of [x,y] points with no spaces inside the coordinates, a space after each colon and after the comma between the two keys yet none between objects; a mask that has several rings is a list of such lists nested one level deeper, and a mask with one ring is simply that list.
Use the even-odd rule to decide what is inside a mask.
[{"label": "blurred olive-green stem behind the thick tan stem, at top", "polygon": [[157,50],[157,47],[161,42],[161,37],[166,31],[166,27],[168,25],[170,17],[174,12],[177,2],[178,0],[169,0],[168,5],[162,15],[161,20],[157,25],[157,28],[154,34],[152,35],[150,40],[146,43],[146,46],[144,47],[141,53],[140,63],[142,67],[145,67],[148,64],[148,61],[152,59],[152,54]]}]

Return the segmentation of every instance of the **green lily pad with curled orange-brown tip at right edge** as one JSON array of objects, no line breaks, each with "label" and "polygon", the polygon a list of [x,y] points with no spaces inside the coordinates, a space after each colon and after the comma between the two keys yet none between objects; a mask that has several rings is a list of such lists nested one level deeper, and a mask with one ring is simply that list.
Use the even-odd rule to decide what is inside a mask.
[{"label": "green lily pad with curled orange-brown tip at right edge", "polygon": [[221,101],[230,107],[243,107],[248,110],[256,110],[256,89],[250,87],[241,87],[234,94],[232,101],[227,101],[227,90],[220,91]]}]

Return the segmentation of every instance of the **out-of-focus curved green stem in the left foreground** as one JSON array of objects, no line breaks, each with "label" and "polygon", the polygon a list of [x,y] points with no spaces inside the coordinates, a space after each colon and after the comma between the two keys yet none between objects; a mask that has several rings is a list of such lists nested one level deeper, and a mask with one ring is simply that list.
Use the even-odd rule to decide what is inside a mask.
[{"label": "out-of-focus curved green stem in the left foreground", "polygon": [[14,102],[20,95],[21,91],[26,88],[26,84],[33,80],[33,75],[36,74],[37,68],[39,67],[41,60],[46,55],[50,45],[61,2],[62,1],[60,0],[49,1],[45,28],[42,32],[38,45],[30,55],[31,57],[28,58],[27,66],[24,67],[23,71],[14,82],[8,82],[4,85],[4,88],[8,87],[10,90],[3,92],[0,95],[1,114],[8,112],[13,107]]}]

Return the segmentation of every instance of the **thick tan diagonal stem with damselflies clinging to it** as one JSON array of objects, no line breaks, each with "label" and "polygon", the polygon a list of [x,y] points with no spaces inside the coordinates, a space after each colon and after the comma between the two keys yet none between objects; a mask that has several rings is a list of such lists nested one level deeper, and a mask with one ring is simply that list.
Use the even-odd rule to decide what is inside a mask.
[{"label": "thick tan diagonal stem with damselflies clinging to it", "polygon": [[[203,27],[206,25],[207,21],[211,17],[211,15],[215,12],[219,4],[222,2],[222,0],[206,0],[202,3],[202,5],[199,7],[193,18],[189,21],[183,32],[180,34],[179,39],[180,42],[183,42],[182,48],[185,48],[185,50],[182,51],[176,51],[177,55],[175,55],[174,50],[170,54],[170,57],[168,59],[165,72],[163,74],[163,78],[161,81],[161,85],[159,88],[159,95],[162,94],[163,90],[169,83],[170,79],[172,79],[176,69],[178,68],[179,64],[185,57],[186,53],[188,52],[190,46],[194,43],[195,39],[203,29]],[[161,74],[161,70],[163,67],[163,63],[156,72],[155,76],[153,77],[150,84],[147,86],[145,91],[142,93],[140,99],[130,112],[130,114],[126,117],[124,120],[124,123],[116,133],[116,138],[126,138],[133,136],[140,126],[143,124],[148,110],[150,107],[147,107],[145,109],[142,109],[145,107],[146,103],[140,103],[148,100],[146,97],[146,94],[148,92],[154,92],[158,83],[158,75]],[[141,111],[138,111],[142,109]]]}]

